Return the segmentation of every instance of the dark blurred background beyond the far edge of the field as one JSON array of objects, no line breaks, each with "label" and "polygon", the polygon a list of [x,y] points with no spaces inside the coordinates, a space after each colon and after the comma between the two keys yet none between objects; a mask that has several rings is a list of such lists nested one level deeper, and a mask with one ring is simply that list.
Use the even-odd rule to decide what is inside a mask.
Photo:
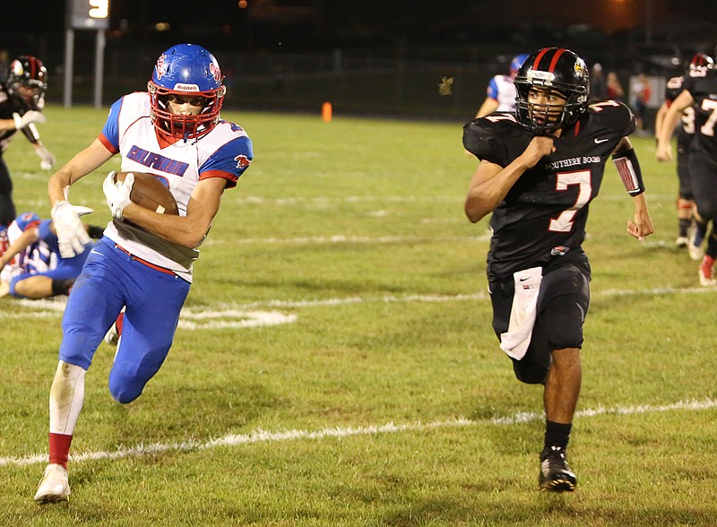
[{"label": "dark blurred background beyond the far edge of the field", "polygon": [[[144,90],[162,50],[194,42],[217,56],[229,108],[317,112],[330,101],[334,114],[468,120],[514,55],[561,46],[617,73],[626,94],[648,75],[654,111],[665,79],[717,43],[717,0],[65,0],[0,19],[5,60],[39,56],[51,103],[64,99],[77,1],[107,5],[106,106]],[[91,104],[97,30],[73,35],[73,104]]]}]

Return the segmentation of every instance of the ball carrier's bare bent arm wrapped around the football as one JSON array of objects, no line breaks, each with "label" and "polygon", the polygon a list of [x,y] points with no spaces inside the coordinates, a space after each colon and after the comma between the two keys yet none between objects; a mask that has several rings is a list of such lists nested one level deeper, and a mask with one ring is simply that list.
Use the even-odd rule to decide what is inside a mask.
[{"label": "ball carrier's bare bent arm wrapped around the football", "polygon": [[210,177],[197,183],[186,206],[186,217],[159,214],[134,203],[125,207],[122,216],[172,243],[194,248],[202,243],[212,226],[225,186],[226,180],[221,177]]}]

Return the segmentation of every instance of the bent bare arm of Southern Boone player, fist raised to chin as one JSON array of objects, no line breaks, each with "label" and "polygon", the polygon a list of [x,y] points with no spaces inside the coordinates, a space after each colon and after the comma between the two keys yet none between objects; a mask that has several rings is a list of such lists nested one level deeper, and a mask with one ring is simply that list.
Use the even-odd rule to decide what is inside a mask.
[{"label": "bent bare arm of Southern Boone player, fist raised to chin", "polygon": [[493,212],[523,173],[553,150],[552,137],[536,136],[525,151],[505,168],[486,160],[480,161],[465,199],[464,210],[468,219],[475,223]]}]

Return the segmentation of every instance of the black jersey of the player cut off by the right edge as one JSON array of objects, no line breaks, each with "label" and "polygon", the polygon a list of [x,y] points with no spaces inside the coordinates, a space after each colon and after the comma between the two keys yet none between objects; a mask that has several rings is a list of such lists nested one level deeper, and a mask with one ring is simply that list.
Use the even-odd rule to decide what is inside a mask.
[{"label": "black jersey of the player cut off by the right edge", "polygon": [[695,141],[691,151],[717,162],[717,70],[705,70],[704,77],[687,77],[685,90],[695,99]]}]

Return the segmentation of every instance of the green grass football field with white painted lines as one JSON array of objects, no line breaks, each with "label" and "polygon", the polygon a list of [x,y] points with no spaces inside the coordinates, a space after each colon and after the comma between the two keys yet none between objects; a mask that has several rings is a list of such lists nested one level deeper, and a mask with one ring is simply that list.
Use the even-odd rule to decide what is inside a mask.
[{"label": "green grass football field with white painted lines", "polygon": [[[60,162],[105,112],[48,108]],[[537,490],[542,391],[490,327],[486,220],[462,202],[462,123],[228,114],[255,162],[225,194],[160,373],[107,388],[102,344],[75,430],[68,504],[32,501],[47,458],[62,304],[0,299],[2,525],[715,525],[714,291],[673,246],[673,165],[635,138],[657,232],[609,163],[585,248],[592,305],[569,456]],[[39,159],[4,154],[20,211],[49,213]],[[71,199],[108,218],[101,179]]]}]

